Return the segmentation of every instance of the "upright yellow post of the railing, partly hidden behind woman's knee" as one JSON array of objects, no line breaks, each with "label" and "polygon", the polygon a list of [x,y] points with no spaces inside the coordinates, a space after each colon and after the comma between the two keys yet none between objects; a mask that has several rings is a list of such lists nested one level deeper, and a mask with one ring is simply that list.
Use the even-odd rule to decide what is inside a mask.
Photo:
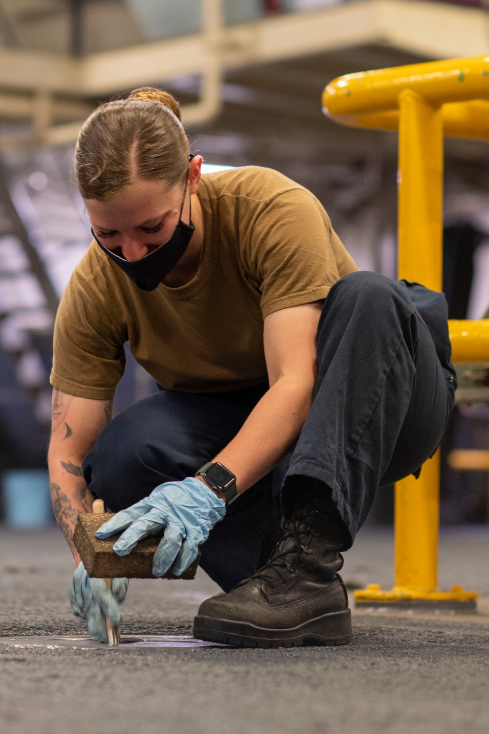
[{"label": "upright yellow post of the railing, partly hidden behind woman's knee", "polygon": [[[443,120],[420,95],[399,97],[398,277],[442,288]],[[438,586],[438,452],[419,479],[395,487],[395,586],[434,591]]]}]

